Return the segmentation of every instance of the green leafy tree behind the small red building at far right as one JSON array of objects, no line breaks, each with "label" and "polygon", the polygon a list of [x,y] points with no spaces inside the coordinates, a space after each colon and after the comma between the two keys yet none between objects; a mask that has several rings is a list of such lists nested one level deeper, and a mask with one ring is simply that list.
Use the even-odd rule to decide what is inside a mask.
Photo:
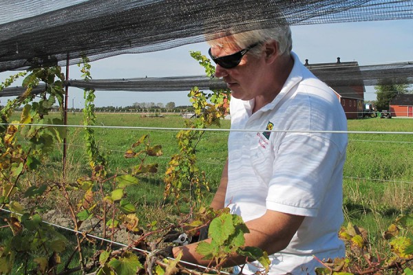
[{"label": "green leafy tree behind the small red building at far right", "polygon": [[374,86],[377,100],[376,107],[379,111],[390,109],[390,100],[398,94],[410,94],[413,91],[407,84],[385,84]]}]

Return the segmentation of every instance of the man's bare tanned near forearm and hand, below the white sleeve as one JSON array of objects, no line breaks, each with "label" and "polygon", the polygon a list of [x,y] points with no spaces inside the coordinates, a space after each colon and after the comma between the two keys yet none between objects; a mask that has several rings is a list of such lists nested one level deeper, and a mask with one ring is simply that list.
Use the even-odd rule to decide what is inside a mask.
[{"label": "man's bare tanned near forearm and hand, below the white sleeve", "polygon": [[[268,252],[268,255],[284,250],[303,220],[303,216],[267,210],[262,217],[246,222],[250,233],[244,235],[245,246],[261,248]],[[207,239],[205,241],[211,240]],[[191,243],[173,248],[173,255],[176,257],[182,252],[182,261],[203,266],[209,265],[210,262],[202,260],[203,256],[196,252],[197,245],[198,243]],[[248,261],[251,261],[251,259],[248,259]],[[230,257],[225,266],[230,267],[244,263],[246,263],[245,257],[234,255]]]}]

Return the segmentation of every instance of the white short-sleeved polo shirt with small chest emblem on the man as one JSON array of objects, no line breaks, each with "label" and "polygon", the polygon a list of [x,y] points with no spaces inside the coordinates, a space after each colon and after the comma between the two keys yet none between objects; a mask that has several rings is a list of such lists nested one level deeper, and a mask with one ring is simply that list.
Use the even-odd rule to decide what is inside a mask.
[{"label": "white short-sleeved polo shirt with small chest emblem on the man", "polygon": [[273,102],[255,113],[253,100],[230,103],[225,205],[244,221],[267,209],[306,216],[288,247],[270,256],[270,274],[314,274],[319,263],[313,255],[344,256],[337,232],[343,223],[347,134],[317,131],[346,131],[346,115],[332,89],[293,58],[293,70]]}]

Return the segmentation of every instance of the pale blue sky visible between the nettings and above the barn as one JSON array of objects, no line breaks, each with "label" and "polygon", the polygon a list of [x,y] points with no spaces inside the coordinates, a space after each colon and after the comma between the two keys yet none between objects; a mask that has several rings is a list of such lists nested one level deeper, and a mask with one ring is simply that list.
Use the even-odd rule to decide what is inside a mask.
[{"label": "pale blue sky visible between the nettings and above the barn", "polygon": [[[293,52],[302,63],[332,63],[357,61],[359,65],[374,65],[413,61],[413,20],[368,21],[292,26]],[[90,63],[93,79],[140,78],[162,76],[200,76],[204,69],[189,55],[200,51],[207,55],[207,43],[196,43],[160,52],[123,54]],[[65,72],[65,68],[62,69]],[[0,82],[15,72],[0,73]],[[76,65],[70,66],[69,77],[81,79]],[[20,83],[16,83],[19,85]],[[95,104],[127,106],[134,102],[154,102],[176,106],[189,105],[189,91],[137,92],[96,91]],[[83,91],[69,89],[69,107],[83,107]],[[365,100],[374,100],[374,87],[366,87]],[[0,98],[1,104],[10,98]]]}]

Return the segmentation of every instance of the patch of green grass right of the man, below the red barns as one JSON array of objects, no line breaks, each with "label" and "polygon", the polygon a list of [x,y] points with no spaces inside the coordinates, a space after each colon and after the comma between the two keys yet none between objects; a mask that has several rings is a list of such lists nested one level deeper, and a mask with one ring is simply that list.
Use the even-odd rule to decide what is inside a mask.
[{"label": "patch of green grass right of the man, below the red barns", "polygon": [[[348,120],[349,131],[412,132],[413,120]],[[399,215],[413,212],[413,135],[351,133],[344,166],[346,221],[366,228],[370,241]]]}]

